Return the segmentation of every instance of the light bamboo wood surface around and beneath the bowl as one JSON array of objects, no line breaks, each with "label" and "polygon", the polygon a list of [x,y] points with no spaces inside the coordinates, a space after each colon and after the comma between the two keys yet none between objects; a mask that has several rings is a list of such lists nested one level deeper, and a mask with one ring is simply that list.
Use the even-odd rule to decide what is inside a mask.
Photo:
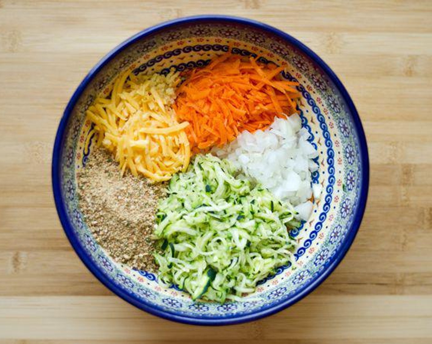
[{"label": "light bamboo wood surface around and beneath the bowl", "polygon": [[[316,51],[353,97],[371,161],[337,270],[290,309],[224,328],[114,296],[73,252],[51,193],[54,135],[87,71],[139,30],[200,13],[257,19]],[[0,343],[432,343],[431,109],[428,0],[0,0]]]}]

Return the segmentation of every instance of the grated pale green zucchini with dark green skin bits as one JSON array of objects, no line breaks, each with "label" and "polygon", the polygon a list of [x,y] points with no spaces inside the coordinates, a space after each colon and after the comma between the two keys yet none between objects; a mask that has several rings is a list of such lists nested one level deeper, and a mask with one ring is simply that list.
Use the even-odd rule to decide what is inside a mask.
[{"label": "grated pale green zucchini with dark green skin bits", "polygon": [[172,177],[159,205],[159,278],[194,300],[238,299],[293,262],[289,229],[300,223],[292,206],[237,172],[228,160],[197,155],[186,173]]}]

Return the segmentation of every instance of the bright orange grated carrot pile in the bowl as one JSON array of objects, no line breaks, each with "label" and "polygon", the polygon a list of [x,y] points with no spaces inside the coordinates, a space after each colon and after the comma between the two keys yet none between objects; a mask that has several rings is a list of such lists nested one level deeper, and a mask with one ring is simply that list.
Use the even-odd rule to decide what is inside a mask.
[{"label": "bright orange grated carrot pile in the bowl", "polygon": [[264,129],[275,116],[297,112],[298,83],[283,80],[283,69],[226,53],[191,71],[178,88],[173,107],[180,122],[191,124],[185,131],[192,151],[220,147],[243,130]]}]

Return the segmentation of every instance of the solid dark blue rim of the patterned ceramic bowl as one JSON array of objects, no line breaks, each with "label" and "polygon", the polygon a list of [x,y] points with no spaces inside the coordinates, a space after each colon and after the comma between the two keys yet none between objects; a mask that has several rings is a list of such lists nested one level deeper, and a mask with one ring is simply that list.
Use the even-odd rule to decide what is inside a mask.
[{"label": "solid dark blue rim of the patterned ceramic bowl", "polygon": [[[353,116],[353,122],[355,125],[356,133],[359,139],[359,151],[360,151],[360,159],[362,164],[362,176],[361,176],[361,185],[360,185],[360,196],[358,207],[356,208],[356,213],[353,217],[353,223],[351,228],[349,229],[349,234],[347,235],[343,246],[340,248],[338,255],[334,258],[331,264],[324,270],[319,276],[317,276],[308,286],[303,288],[299,293],[293,295],[291,298],[281,302],[278,305],[270,307],[268,309],[264,309],[259,312],[255,312],[248,315],[235,316],[232,315],[230,317],[214,319],[214,318],[194,318],[184,315],[179,315],[177,313],[166,311],[165,309],[159,308],[158,306],[141,303],[137,301],[131,294],[127,293],[124,289],[121,289],[119,286],[114,284],[112,280],[110,280],[107,276],[105,276],[102,271],[93,263],[93,261],[88,257],[86,251],[84,251],[83,247],[79,243],[78,239],[74,235],[73,226],[70,222],[69,216],[67,215],[66,205],[64,203],[64,198],[61,193],[60,187],[60,158],[63,151],[64,146],[64,132],[66,129],[67,121],[71,116],[73,107],[75,106],[79,96],[85,90],[86,86],[92,80],[92,78],[109,62],[111,61],[118,53],[120,53],[124,48],[137,42],[138,40],[151,35],[152,33],[158,32],[161,29],[168,29],[178,24],[187,24],[187,23],[200,23],[206,21],[221,21],[221,22],[229,22],[229,23],[238,23],[244,24],[247,26],[252,26],[255,29],[264,30],[266,32],[270,32],[273,35],[278,36],[279,38],[289,42],[294,45],[300,51],[302,51],[305,55],[307,55],[311,60],[317,63],[325,73],[327,73],[330,80],[333,81],[334,85],[337,87],[340,95],[346,102],[346,105]],[[247,321],[253,321],[260,318],[264,318],[268,315],[272,315],[276,312],[280,312],[281,310],[293,305],[295,302],[300,301],[309,293],[311,293],[315,288],[317,288],[324,280],[333,272],[333,270],[339,265],[339,263],[345,257],[346,252],[350,248],[351,244],[356,237],[357,231],[359,230],[360,223],[362,221],[362,217],[365,211],[366,200],[368,196],[368,185],[369,185],[369,158],[368,158],[368,148],[366,144],[365,133],[362,127],[362,123],[359,117],[359,114],[354,106],[353,100],[349,96],[346,88],[343,86],[339,78],[336,74],[330,69],[330,67],[310,48],[304,45],[299,40],[295,39],[291,35],[274,28],[273,26],[260,23],[255,20],[245,19],[235,16],[221,16],[221,15],[200,15],[200,16],[189,16],[179,19],[173,19],[164,23],[160,23],[156,26],[152,26],[148,29],[145,29],[141,32],[138,32],[136,35],[133,35],[129,39],[122,42],[120,45],[111,50],[105,57],[103,57],[96,65],[93,67],[83,81],[79,84],[76,91],[73,93],[69,103],[67,104],[64,114],[60,120],[56,138],[54,141],[53,148],[53,158],[52,158],[52,187],[54,193],[54,202],[57,208],[57,213],[60,218],[60,222],[64,228],[67,238],[70,241],[73,249],[75,250],[78,257],[83,261],[86,267],[101,281],[108,289],[110,289],[113,293],[120,296],[125,301],[134,305],[135,307],[142,309],[152,315],[157,315],[161,318],[165,318],[172,321],[178,321],[185,324],[191,325],[233,325],[239,324]]]}]

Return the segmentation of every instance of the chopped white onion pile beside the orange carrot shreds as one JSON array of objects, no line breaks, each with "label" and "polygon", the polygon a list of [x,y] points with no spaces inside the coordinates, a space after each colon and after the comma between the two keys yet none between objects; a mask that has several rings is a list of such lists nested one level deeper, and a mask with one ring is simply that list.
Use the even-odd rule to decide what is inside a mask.
[{"label": "chopped white onion pile beside the orange carrot shreds", "polygon": [[313,161],[318,152],[308,138],[300,116],[294,114],[275,119],[264,131],[241,132],[229,145],[213,153],[228,158],[247,177],[296,206],[299,218],[307,220],[313,206],[309,199],[312,194],[318,199],[322,191],[320,184],[311,183],[311,173],[318,170]]}]

